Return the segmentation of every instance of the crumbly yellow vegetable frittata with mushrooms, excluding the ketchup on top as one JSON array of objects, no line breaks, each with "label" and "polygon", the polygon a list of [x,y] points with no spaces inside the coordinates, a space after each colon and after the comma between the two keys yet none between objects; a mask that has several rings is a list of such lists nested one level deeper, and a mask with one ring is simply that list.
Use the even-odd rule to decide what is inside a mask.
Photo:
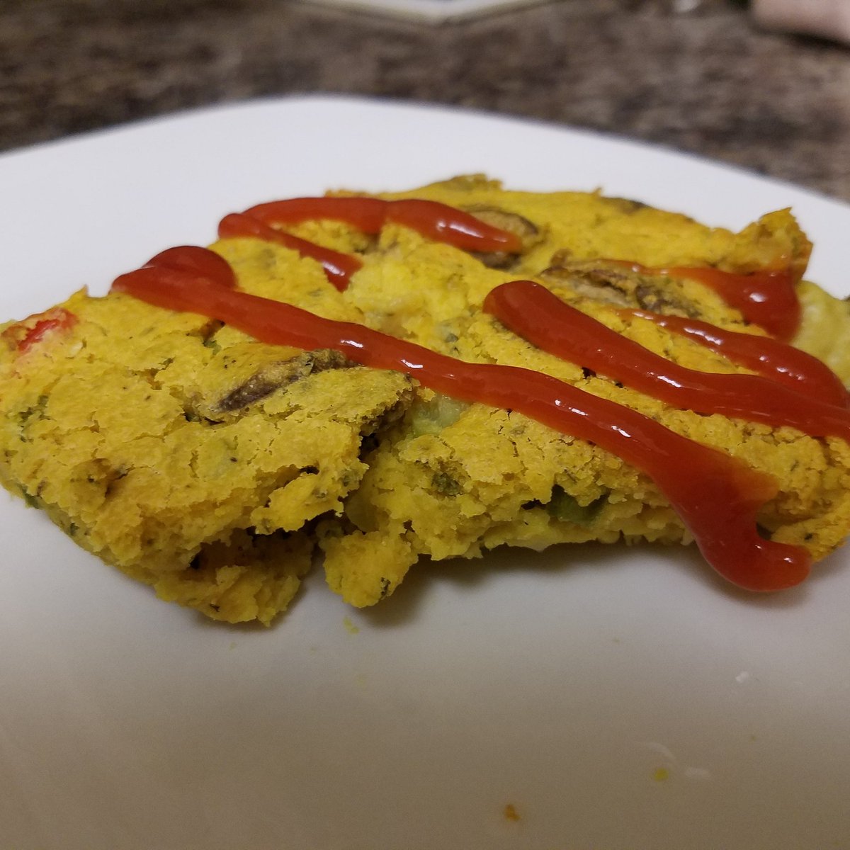
[{"label": "crumbly yellow vegetable frittata with mushrooms, excluding the ketchup on top", "polygon": [[[753,374],[650,314],[769,341],[769,329],[683,269],[781,268],[801,304],[791,343],[830,366],[840,393],[850,382],[850,304],[802,280],[811,246],[791,212],[735,234],[635,201],[511,191],[479,176],[371,197],[446,205],[512,241],[474,250],[400,213],[371,230],[323,215],[275,224],[292,241],[223,226],[210,250],[240,293],[467,364],[543,373],[638,411],[775,481],[757,514],[765,540],[815,561],[842,545],[846,400],[830,401],[838,424],[828,433],[694,410],[548,353],[487,300],[511,281],[533,281],[673,364]],[[355,258],[346,285],[303,245]],[[216,620],[269,624],[318,562],[332,590],[365,606],[393,593],[422,556],[694,540],[666,490],[595,440],[513,406],[439,392],[413,368],[262,342],[215,314],[120,289],[77,292],[0,326],[0,481],[160,598]]]}]

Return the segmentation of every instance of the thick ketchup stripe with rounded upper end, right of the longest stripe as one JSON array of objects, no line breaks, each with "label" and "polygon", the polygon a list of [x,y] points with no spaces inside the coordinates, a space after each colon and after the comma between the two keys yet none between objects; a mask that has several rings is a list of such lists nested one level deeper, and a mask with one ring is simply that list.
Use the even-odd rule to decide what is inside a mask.
[{"label": "thick ketchup stripe with rounded upper end, right of the longest stripe", "polygon": [[686,369],[570,307],[532,280],[496,286],[484,300],[484,310],[538,348],[668,404],[850,441],[846,408],[760,375]]}]

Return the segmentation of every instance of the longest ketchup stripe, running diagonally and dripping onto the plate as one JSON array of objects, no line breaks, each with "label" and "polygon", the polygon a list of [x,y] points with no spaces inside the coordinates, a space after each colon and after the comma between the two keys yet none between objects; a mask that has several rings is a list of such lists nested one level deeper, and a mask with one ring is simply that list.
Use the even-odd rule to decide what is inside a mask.
[{"label": "longest ketchup stripe, running diagonally and dripping onto the plate", "polygon": [[[370,207],[367,212],[377,216],[379,211]],[[264,343],[334,348],[356,363],[404,372],[456,399],[520,411],[596,443],[646,473],[682,517],[706,560],[729,581],[774,591],[808,575],[811,558],[804,548],[757,533],[757,513],[778,491],[771,476],[638,411],[541,372],[467,363],[364,326],[237,292],[215,275],[149,265],[117,278],[113,288],[166,309],[223,321]]]}]

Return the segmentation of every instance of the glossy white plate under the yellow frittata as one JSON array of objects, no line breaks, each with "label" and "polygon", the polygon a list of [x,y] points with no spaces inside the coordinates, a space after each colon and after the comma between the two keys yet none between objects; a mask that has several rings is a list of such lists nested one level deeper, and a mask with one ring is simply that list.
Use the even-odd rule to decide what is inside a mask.
[{"label": "glossy white plate under the yellow frittata", "polygon": [[[847,294],[850,208],[630,142],[440,108],[282,99],[0,157],[0,316],[218,218],[485,171],[740,227],[792,206]],[[0,494],[3,850],[850,847],[850,564],[755,597],[689,550],[422,565],[347,609],[214,625]],[[519,820],[506,816],[515,808]]]}]

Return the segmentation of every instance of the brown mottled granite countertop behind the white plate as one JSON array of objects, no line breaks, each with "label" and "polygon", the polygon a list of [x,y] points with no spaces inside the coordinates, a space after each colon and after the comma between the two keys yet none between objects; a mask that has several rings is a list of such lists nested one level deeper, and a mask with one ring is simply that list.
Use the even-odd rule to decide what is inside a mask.
[{"label": "brown mottled granite countertop behind the white plate", "polygon": [[734,0],[565,0],[443,25],[287,0],[5,0],[0,150],[347,93],[612,131],[850,201],[850,50]]}]

